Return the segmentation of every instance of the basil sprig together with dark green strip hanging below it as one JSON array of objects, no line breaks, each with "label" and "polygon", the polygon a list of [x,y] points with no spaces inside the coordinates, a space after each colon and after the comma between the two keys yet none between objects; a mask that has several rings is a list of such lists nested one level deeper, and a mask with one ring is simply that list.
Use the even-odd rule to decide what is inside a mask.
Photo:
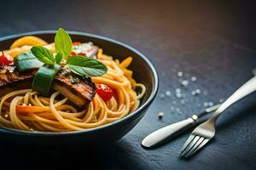
[{"label": "basil sprig together with dark green strip hanging below it", "polygon": [[[31,51],[39,61],[44,63],[34,77],[32,88],[44,96],[49,94],[51,82],[54,80],[55,74],[60,71],[61,65],[59,64],[64,57],[64,60],[67,59],[65,66],[80,77],[99,77],[108,71],[106,65],[96,59],[79,55],[69,56],[72,51],[72,40],[62,28],[55,35],[55,51],[57,52],[55,56],[49,49],[44,47],[32,47]],[[72,83],[77,83],[79,78],[77,79],[73,79]]]}]

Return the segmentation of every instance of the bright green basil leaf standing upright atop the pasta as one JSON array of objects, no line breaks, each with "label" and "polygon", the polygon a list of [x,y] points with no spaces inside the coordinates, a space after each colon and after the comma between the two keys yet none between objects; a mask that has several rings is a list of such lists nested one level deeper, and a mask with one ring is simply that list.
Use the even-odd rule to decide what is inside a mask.
[{"label": "bright green basil leaf standing upright atop the pasta", "polygon": [[55,35],[55,50],[64,57],[67,57],[72,50],[72,40],[67,34],[67,31],[62,28],[59,28]]}]

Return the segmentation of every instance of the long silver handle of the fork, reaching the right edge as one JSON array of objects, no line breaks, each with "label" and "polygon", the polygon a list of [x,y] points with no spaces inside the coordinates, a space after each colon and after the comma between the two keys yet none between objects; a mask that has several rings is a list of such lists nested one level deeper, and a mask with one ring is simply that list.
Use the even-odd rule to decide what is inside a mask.
[{"label": "long silver handle of the fork, reaching the right edge", "polygon": [[234,94],[227,99],[224,104],[220,105],[217,111],[215,111],[210,120],[216,121],[218,116],[230,105],[236,103],[239,99],[253,93],[256,90],[256,77],[251,78],[249,81],[244,83],[241,88],[238,88]]}]

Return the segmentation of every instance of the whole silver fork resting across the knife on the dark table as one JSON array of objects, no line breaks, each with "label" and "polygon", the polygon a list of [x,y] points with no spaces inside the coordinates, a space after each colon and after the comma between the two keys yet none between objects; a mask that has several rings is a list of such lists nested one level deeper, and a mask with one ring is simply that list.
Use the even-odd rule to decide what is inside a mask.
[{"label": "whole silver fork resting across the knife on the dark table", "polygon": [[241,88],[238,88],[234,94],[227,99],[217,111],[215,111],[210,119],[201,123],[195,127],[194,131],[190,134],[189,138],[183,144],[182,151],[180,153],[183,157],[189,157],[200,150],[207,144],[215,135],[215,122],[218,116],[227,109],[230,105],[236,103],[239,99],[247,96],[247,94],[253,93],[256,90],[256,76],[244,83]]}]

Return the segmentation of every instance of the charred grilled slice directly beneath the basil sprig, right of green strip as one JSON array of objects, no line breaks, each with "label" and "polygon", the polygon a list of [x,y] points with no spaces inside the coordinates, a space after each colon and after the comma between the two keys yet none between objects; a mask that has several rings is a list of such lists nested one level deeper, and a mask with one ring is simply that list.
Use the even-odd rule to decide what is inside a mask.
[{"label": "charred grilled slice directly beneath the basil sprig, right of green strip", "polygon": [[88,104],[96,94],[95,83],[90,78],[74,76],[67,68],[62,68],[57,73],[52,88],[60,91],[79,107]]}]

